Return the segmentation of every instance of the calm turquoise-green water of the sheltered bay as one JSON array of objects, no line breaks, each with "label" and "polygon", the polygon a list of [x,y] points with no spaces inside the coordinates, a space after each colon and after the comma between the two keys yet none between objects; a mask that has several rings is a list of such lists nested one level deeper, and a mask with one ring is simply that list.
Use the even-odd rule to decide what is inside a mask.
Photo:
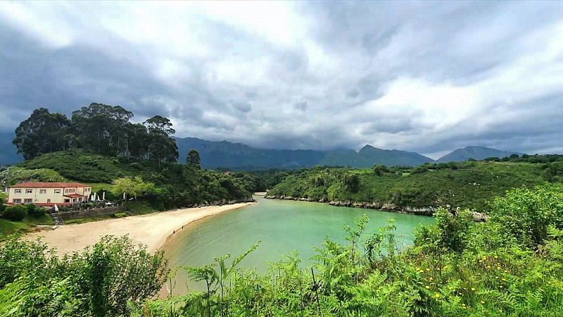
[{"label": "calm turquoise-green water of the sheltered bay", "polygon": [[[324,237],[344,242],[344,226],[353,225],[364,213],[369,217],[366,234],[377,232],[394,219],[400,246],[412,244],[415,227],[434,223],[434,218],[426,216],[255,198],[257,204],[187,226],[165,247],[170,266],[201,266],[224,254],[234,258],[261,240],[260,247],[241,262],[241,267],[264,272],[269,262],[279,261],[291,251],[298,251],[305,267],[312,263],[315,247],[322,246]],[[186,276],[179,273],[175,293],[185,290]]]}]

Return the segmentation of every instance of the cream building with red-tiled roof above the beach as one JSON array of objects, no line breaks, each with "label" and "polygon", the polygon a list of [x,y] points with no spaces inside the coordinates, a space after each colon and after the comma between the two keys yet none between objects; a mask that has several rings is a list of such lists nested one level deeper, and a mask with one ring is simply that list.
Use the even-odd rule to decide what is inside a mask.
[{"label": "cream building with red-tiled roof above the beach", "polygon": [[22,182],[8,189],[8,204],[68,206],[88,201],[92,187],[78,182]]}]

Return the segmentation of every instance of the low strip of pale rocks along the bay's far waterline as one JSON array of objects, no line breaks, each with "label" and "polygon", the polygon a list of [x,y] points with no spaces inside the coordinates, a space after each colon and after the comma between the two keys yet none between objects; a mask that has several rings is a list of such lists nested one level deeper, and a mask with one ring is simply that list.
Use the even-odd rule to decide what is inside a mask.
[{"label": "low strip of pale rocks along the bay's far waterline", "polygon": [[[411,207],[411,206],[397,206],[396,204],[392,203],[379,203],[379,202],[362,202],[362,201],[340,201],[340,200],[332,200],[327,201],[327,199],[310,199],[305,197],[291,197],[291,196],[278,196],[278,195],[266,195],[265,198],[267,199],[287,199],[287,200],[298,200],[298,201],[315,201],[320,203],[328,203],[331,206],[337,207],[351,207],[351,208],[365,208],[365,209],[377,209],[377,210],[384,210],[384,211],[393,211],[396,213],[412,213],[414,215],[421,215],[421,216],[434,216],[436,212],[436,207]],[[451,206],[446,206],[448,209],[452,209]],[[473,218],[475,221],[486,221],[487,216],[484,213],[473,212]]]}]

